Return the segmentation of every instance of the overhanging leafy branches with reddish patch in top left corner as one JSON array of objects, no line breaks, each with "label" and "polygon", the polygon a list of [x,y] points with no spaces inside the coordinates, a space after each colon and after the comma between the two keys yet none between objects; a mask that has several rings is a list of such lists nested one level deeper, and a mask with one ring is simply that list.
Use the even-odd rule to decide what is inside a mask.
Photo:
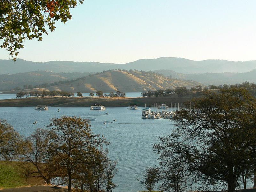
[{"label": "overhanging leafy branches with reddish patch in top left corner", "polygon": [[70,9],[84,0],[41,0],[0,1],[0,40],[1,48],[7,49],[15,60],[18,50],[23,48],[25,39],[42,41],[43,34],[48,34],[46,27],[54,31],[55,22],[65,23],[71,19]]}]

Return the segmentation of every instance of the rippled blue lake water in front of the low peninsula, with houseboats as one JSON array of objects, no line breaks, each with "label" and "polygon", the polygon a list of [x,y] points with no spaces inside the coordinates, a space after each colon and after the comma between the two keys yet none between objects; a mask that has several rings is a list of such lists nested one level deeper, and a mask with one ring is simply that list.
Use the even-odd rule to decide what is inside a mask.
[{"label": "rippled blue lake water in front of the low peninsula, with houseboats", "polygon": [[[158,154],[153,151],[152,145],[159,136],[169,134],[174,127],[168,119],[141,119],[141,109],[107,107],[105,111],[91,111],[89,108],[60,108],[58,112],[58,108],[49,107],[48,111],[40,112],[34,107],[8,107],[0,108],[0,118],[7,120],[24,136],[30,135],[36,128],[46,128],[52,117],[96,118],[91,120],[92,131],[104,135],[111,142],[108,146],[109,157],[118,161],[118,172],[114,178],[118,187],[114,191],[136,192],[145,189],[135,179],[143,177],[147,166],[158,165]],[[37,124],[33,124],[34,121]]]}]

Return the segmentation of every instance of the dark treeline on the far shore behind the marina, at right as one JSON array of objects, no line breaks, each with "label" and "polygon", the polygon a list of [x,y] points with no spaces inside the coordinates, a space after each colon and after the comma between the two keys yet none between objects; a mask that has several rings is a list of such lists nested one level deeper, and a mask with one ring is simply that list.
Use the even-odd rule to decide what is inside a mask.
[{"label": "dark treeline on the far shore behind the marina, at right", "polygon": [[175,89],[159,89],[157,91],[147,91],[147,92],[142,92],[141,96],[142,97],[158,97],[158,96],[168,96],[171,94],[176,93],[179,97],[183,97],[185,95],[188,95],[189,93],[196,93],[196,94],[201,94],[204,91],[208,91],[208,90],[212,90],[212,89],[225,89],[225,88],[231,88],[231,87],[244,87],[247,90],[249,90],[252,95],[256,96],[256,84],[254,83],[250,83],[248,81],[245,81],[242,84],[234,84],[234,85],[228,85],[228,84],[224,84],[224,85],[209,85],[208,87],[202,87],[201,85],[198,85],[196,87],[191,87],[191,89],[187,89],[186,87],[176,87]]}]

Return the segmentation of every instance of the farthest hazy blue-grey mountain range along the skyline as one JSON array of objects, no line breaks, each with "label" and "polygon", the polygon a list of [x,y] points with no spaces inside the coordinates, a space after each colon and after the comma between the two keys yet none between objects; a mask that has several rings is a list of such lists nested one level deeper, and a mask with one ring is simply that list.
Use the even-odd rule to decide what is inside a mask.
[{"label": "farthest hazy blue-grey mountain range along the skyline", "polygon": [[248,72],[256,68],[256,61],[228,61],[228,60],[203,60],[193,61],[184,58],[161,57],[158,59],[141,59],[126,64],[98,63],[98,62],[73,62],[49,61],[33,62],[22,59],[0,60],[0,74],[15,74],[20,72],[46,70],[59,72],[100,72],[108,69],[137,69],[173,70],[178,73],[222,73],[222,72]]}]

